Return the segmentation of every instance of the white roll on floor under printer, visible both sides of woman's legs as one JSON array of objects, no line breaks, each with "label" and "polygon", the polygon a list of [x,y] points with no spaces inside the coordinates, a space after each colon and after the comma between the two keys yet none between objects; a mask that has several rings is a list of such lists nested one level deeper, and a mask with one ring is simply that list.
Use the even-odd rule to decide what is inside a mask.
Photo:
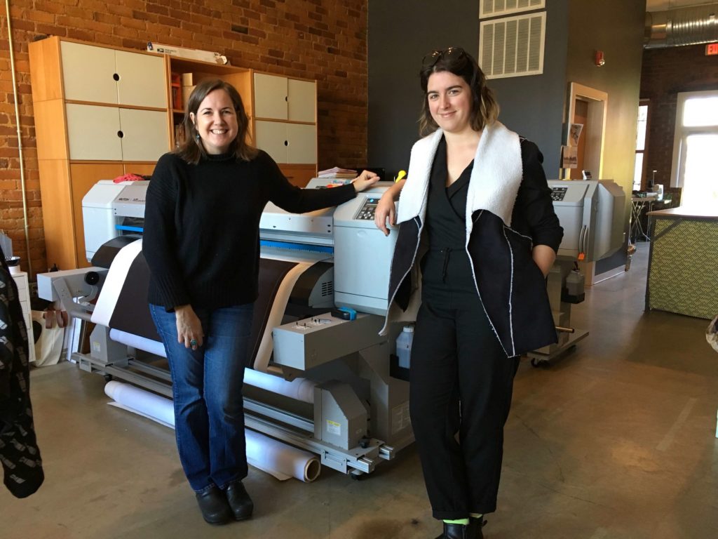
[{"label": "white roll on floor under printer, visible both sides of woman's legs", "polygon": [[[114,380],[107,382],[105,393],[123,409],[174,428],[172,400]],[[255,468],[282,481],[295,477],[308,483],[319,477],[322,465],[312,453],[288,446],[253,430],[245,429],[245,436],[247,461]]]}]

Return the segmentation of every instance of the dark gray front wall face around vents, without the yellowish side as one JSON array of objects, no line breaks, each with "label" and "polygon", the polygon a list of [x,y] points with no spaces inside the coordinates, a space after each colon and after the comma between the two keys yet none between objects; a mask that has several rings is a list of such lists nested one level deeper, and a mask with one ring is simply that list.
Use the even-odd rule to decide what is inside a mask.
[{"label": "dark gray front wall face around vents, without the yellowish side", "polygon": [[[463,47],[477,57],[480,0],[370,0],[368,22],[368,165],[387,175],[409,166],[419,138],[419,69],[427,52]],[[558,177],[566,94],[569,0],[549,0],[544,74],[493,79],[509,129],[533,140],[544,152],[549,178]]]}]

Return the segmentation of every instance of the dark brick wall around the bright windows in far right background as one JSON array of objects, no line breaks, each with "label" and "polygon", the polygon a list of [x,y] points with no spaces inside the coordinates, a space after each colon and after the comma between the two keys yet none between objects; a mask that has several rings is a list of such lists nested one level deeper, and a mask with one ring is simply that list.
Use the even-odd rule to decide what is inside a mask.
[{"label": "dark brick wall around the bright windows in far right background", "polygon": [[[718,90],[718,56],[706,56],[705,45],[648,49],[643,52],[640,97],[649,99],[646,175],[671,185],[673,132],[679,92]],[[645,180],[644,185],[645,188]]]}]

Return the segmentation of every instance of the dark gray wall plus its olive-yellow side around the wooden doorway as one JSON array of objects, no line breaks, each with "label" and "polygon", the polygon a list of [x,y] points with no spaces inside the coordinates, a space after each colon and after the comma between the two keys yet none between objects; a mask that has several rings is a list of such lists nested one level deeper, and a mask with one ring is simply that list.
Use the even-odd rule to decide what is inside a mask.
[{"label": "dark gray wall plus its olive-yellow side around the wooden doorway", "polygon": [[[391,178],[409,166],[418,138],[419,68],[426,52],[479,47],[480,0],[369,0],[368,165]],[[569,82],[609,94],[603,177],[630,198],[640,87],[645,0],[547,0],[544,73],[489,80],[509,129],[544,153],[546,176],[559,178]],[[594,65],[603,50],[606,65]],[[628,222],[628,213],[626,216]],[[597,264],[605,272],[625,263],[625,250]]]}]

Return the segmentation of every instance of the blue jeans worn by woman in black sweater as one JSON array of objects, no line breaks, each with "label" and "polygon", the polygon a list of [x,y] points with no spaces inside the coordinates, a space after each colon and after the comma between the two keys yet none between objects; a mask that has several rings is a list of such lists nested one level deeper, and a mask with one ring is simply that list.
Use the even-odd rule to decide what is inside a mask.
[{"label": "blue jeans worn by woman in black sweater", "polygon": [[242,384],[253,308],[195,309],[205,338],[192,350],[177,342],[174,312],[149,305],[172,372],[177,450],[195,492],[247,476]]}]

